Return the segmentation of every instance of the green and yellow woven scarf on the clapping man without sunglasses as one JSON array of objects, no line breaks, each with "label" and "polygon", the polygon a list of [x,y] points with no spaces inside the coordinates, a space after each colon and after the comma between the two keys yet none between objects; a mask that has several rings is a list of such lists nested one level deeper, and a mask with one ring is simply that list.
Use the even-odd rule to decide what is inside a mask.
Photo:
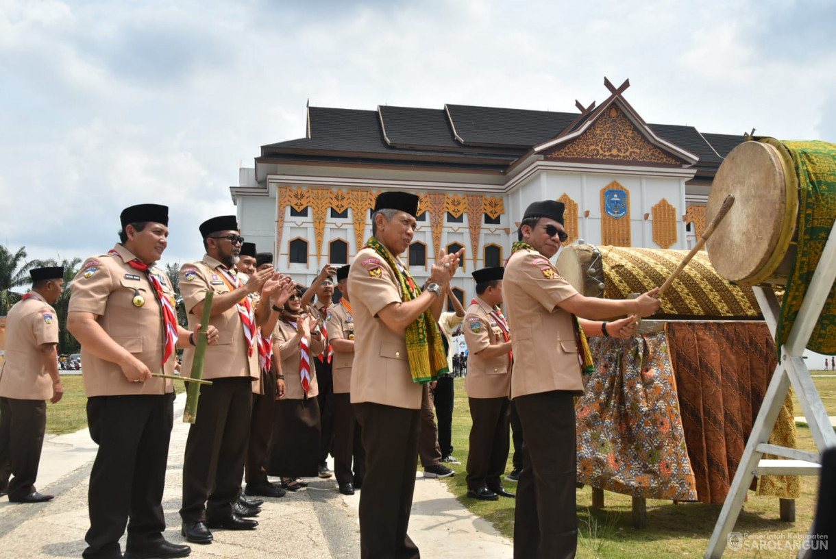
[{"label": "green and yellow woven scarf on the clapping man without sunglasses", "polygon": [[[380,241],[370,236],[365,246],[377,252],[395,271],[404,302],[412,301],[421,295],[421,288],[415,285],[415,279],[409,270],[404,269],[401,273],[395,257]],[[444,344],[441,342],[441,333],[430,309],[424,311],[414,323],[406,327],[406,354],[410,359],[410,373],[414,383],[431,383],[439,374],[450,372],[450,368],[447,367]]]}]

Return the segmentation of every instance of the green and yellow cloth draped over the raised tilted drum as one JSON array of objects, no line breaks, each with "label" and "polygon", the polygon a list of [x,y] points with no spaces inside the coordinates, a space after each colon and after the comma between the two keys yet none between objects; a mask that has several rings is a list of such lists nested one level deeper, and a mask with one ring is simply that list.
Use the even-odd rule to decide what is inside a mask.
[{"label": "green and yellow cloth draped over the raised tilted drum", "polygon": [[[825,241],[836,220],[836,145],[827,142],[782,142],[793,156],[798,175],[798,254],[781,304],[776,338],[787,342]],[[830,288],[822,313],[807,347],[818,353],[836,353],[836,284]]]}]

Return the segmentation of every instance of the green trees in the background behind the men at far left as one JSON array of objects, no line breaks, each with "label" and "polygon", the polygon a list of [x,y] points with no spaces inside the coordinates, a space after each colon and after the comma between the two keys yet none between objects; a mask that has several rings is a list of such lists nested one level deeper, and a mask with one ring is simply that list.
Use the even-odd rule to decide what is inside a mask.
[{"label": "green trees in the background behind the men at far left", "polygon": [[[64,293],[53,307],[59,322],[59,353],[79,353],[81,345],[71,333],[67,331],[67,309],[69,307],[70,285],[75,275],[79,272],[81,258],[48,258],[46,260],[27,260],[26,247],[21,246],[17,251],[12,252],[8,246],[0,245],[0,317],[8,315],[14,303],[20,301],[21,297],[32,286],[32,279],[29,277],[29,270],[39,267],[60,266],[64,268]],[[177,319],[184,327],[188,327],[186,321],[186,305],[180,295],[180,263],[166,264],[162,267],[171,280],[171,285],[176,293]]]}]

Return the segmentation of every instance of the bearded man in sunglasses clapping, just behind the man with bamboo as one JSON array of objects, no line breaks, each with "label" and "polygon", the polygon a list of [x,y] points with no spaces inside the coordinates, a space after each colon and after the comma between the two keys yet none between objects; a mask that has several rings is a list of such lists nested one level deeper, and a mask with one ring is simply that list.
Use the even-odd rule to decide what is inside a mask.
[{"label": "bearded man in sunglasses clapping, just behind the man with bamboo", "polygon": [[[189,324],[200,320],[206,293],[214,298],[210,323],[220,341],[206,348],[197,419],[189,428],[183,459],[183,519],[186,540],[210,543],[209,528],[252,530],[257,521],[242,518],[233,505],[241,495],[241,474],[247,456],[252,409],[252,383],[261,377],[258,330],[270,314],[270,297],[278,287],[273,269],[254,276],[237,272],[235,265],[243,237],[235,216],[218,216],[200,226],[206,254],[186,262],[180,270],[180,291]],[[274,277],[275,276],[275,277]],[[265,285],[272,282],[272,287]],[[250,295],[261,292],[254,304]],[[191,370],[194,351],[183,353],[183,369]]]}]

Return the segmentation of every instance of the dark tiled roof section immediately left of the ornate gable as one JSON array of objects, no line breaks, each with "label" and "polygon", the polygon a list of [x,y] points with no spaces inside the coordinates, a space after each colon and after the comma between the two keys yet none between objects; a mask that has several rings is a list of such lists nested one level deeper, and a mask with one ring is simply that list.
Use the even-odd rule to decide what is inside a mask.
[{"label": "dark tiled roof section immediately left of the ornate gable", "polygon": [[456,134],[466,144],[530,148],[560,134],[578,113],[445,105]]}]

